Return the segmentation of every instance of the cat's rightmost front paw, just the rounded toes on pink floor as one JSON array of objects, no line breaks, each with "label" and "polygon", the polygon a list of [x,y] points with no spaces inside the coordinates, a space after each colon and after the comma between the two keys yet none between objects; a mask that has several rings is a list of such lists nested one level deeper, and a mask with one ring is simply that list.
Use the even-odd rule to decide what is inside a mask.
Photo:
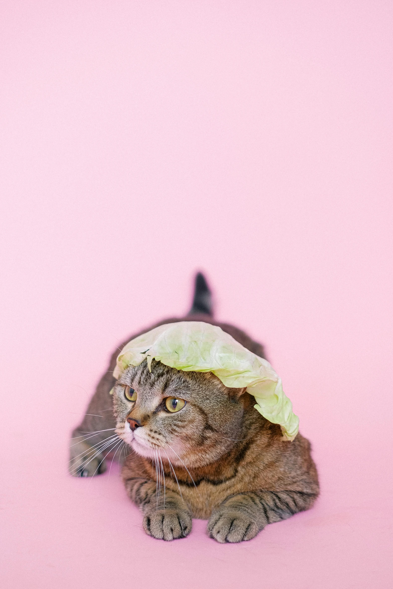
[{"label": "cat's rightmost front paw, just the rounded toes on pink floor", "polygon": [[217,509],[207,524],[207,533],[210,538],[222,544],[252,540],[258,532],[259,527],[256,522],[245,512],[234,507]]}]

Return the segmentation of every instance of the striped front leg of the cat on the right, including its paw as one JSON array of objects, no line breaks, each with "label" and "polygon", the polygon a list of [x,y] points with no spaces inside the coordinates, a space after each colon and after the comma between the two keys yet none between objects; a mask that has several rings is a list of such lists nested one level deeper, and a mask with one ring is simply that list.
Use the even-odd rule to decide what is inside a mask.
[{"label": "striped front leg of the cat on the right, including its paw", "polygon": [[217,542],[251,540],[267,524],[309,509],[317,494],[299,491],[250,491],[233,495],[213,512],[207,524]]}]

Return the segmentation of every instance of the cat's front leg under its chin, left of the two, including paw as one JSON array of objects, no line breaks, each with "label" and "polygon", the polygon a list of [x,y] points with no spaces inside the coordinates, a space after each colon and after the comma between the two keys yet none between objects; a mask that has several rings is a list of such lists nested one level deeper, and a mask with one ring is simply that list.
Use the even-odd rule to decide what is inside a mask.
[{"label": "cat's front leg under its chin, left of the two, including paw", "polygon": [[176,540],[189,535],[192,518],[180,495],[161,487],[157,495],[156,482],[140,477],[124,478],[129,497],[144,515],[146,534],[158,540]]}]

